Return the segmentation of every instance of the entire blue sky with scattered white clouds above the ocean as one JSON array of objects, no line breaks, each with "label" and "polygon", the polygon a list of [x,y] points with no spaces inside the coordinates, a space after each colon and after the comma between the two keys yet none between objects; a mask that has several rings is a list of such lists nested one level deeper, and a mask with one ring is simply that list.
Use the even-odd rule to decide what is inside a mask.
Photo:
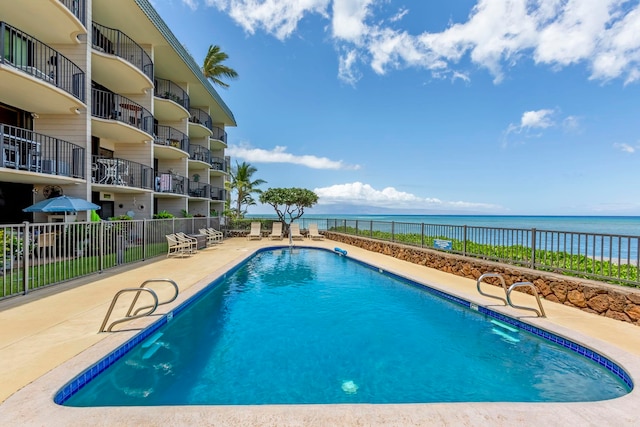
[{"label": "entire blue sky with scattered white clouds above the ocean", "polygon": [[152,3],[312,213],[640,215],[638,0]]}]

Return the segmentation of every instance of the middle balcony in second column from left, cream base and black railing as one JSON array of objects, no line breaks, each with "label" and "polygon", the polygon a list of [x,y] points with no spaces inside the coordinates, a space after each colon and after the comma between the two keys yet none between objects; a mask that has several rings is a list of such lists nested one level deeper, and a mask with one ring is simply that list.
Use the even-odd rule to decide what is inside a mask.
[{"label": "middle balcony in second column from left, cream base and black railing", "polygon": [[153,116],[142,105],[117,93],[91,89],[91,116],[95,136],[122,142],[150,141]]}]

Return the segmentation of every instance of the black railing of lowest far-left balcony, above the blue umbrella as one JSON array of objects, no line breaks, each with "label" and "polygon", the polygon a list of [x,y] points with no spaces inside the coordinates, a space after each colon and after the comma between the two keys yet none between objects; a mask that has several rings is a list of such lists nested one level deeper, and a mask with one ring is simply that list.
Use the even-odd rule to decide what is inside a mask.
[{"label": "black railing of lowest far-left balcony, above the blue umbrella", "polygon": [[3,168],[85,178],[85,150],[71,142],[0,124],[0,148]]}]

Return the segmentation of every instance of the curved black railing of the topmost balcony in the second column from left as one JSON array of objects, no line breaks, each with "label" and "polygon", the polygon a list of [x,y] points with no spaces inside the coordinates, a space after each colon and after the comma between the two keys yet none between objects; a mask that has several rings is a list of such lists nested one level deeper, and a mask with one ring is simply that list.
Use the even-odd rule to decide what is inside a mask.
[{"label": "curved black railing of the topmost balcony in the second column from left", "polygon": [[153,81],[153,62],[138,43],[120,30],[93,23],[93,48],[133,64]]}]

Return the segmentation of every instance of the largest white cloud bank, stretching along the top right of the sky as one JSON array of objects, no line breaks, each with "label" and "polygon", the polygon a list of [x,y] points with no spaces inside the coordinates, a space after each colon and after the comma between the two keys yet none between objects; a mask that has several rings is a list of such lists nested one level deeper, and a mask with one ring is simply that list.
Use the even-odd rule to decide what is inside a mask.
[{"label": "largest white cloud bank, stretching along the top right of the sky", "polygon": [[[197,0],[183,0],[194,7]],[[487,69],[499,83],[523,57],[555,69],[589,68],[590,78],[640,80],[638,0],[478,0],[464,22],[440,32],[409,34],[398,26],[408,9],[387,19],[376,16],[388,0],[204,0],[229,14],[249,34],[262,29],[280,40],[317,14],[331,23],[339,54],[357,51],[378,74],[418,67],[442,76],[459,72],[462,60]],[[359,76],[351,63],[339,77]],[[455,79],[454,79],[455,80]]]}]

